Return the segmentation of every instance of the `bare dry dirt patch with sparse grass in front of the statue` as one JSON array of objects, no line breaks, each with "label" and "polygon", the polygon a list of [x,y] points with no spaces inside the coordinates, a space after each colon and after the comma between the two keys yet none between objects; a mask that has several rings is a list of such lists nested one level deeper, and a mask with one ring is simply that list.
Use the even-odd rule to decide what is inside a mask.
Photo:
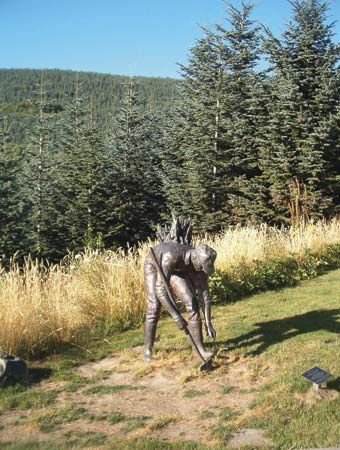
[{"label": "bare dry dirt patch with sparse grass in front of the statue", "polygon": [[98,443],[90,448],[103,448],[110,438],[133,437],[208,446],[222,439],[228,448],[270,446],[261,430],[242,427],[252,414],[251,403],[270,380],[268,367],[229,355],[217,359],[214,371],[200,373],[195,356],[160,354],[147,364],[141,355],[142,349],[135,348],[80,366],[75,370],[78,385],[42,382],[42,391],[58,391],[55,404],[39,411],[3,411],[0,442],[51,437],[62,442],[92,435]]}]

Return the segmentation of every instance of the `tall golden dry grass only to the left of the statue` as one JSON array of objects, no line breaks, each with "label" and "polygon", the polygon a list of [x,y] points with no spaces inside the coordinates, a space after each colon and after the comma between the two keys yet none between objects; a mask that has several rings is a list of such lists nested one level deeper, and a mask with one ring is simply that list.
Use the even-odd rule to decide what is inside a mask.
[{"label": "tall golden dry grass only to the left of the statue", "polygon": [[147,247],[91,252],[49,267],[27,259],[0,276],[0,352],[37,355],[82,343],[99,325],[124,329],[144,314]]}]

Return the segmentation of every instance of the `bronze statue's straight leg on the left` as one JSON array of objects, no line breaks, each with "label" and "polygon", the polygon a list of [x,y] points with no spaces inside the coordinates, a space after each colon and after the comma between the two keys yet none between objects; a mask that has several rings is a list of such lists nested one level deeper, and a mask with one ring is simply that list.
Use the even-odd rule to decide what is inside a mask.
[{"label": "bronze statue's straight leg on the left", "polygon": [[147,310],[144,325],[144,361],[151,361],[161,305],[156,296],[157,273],[154,267],[147,261],[144,269],[147,296]]}]

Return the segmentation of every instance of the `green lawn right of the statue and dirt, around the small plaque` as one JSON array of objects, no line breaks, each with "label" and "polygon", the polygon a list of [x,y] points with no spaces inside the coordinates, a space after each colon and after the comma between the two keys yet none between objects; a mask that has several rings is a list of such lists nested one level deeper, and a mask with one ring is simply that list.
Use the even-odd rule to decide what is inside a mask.
[{"label": "green lawn right of the statue and dirt, around the small plaque", "polygon": [[263,429],[276,448],[340,445],[340,395],[309,406],[303,396],[311,385],[301,377],[320,366],[335,376],[329,387],[340,391],[339,291],[340,271],[334,271],[215,308],[218,345],[252,358],[254,380],[264,368],[272,373],[251,405],[256,418],[243,425]]}]

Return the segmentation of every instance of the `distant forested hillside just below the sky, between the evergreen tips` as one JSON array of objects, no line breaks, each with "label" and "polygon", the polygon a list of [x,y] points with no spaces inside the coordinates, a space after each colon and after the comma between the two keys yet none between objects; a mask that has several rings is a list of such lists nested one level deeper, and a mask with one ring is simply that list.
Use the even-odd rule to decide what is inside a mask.
[{"label": "distant forested hillside just below the sky, between the evergreen tips", "polygon": [[[48,100],[55,102],[56,112],[64,108],[65,101],[74,95],[78,77],[84,96],[92,97],[100,117],[115,113],[122,100],[122,84],[128,78],[92,72],[46,69],[45,90]],[[4,113],[31,112],[31,99],[40,83],[41,70],[0,69],[0,108]],[[134,77],[140,85],[145,108],[166,111],[176,95],[178,80],[171,78]]]}]

